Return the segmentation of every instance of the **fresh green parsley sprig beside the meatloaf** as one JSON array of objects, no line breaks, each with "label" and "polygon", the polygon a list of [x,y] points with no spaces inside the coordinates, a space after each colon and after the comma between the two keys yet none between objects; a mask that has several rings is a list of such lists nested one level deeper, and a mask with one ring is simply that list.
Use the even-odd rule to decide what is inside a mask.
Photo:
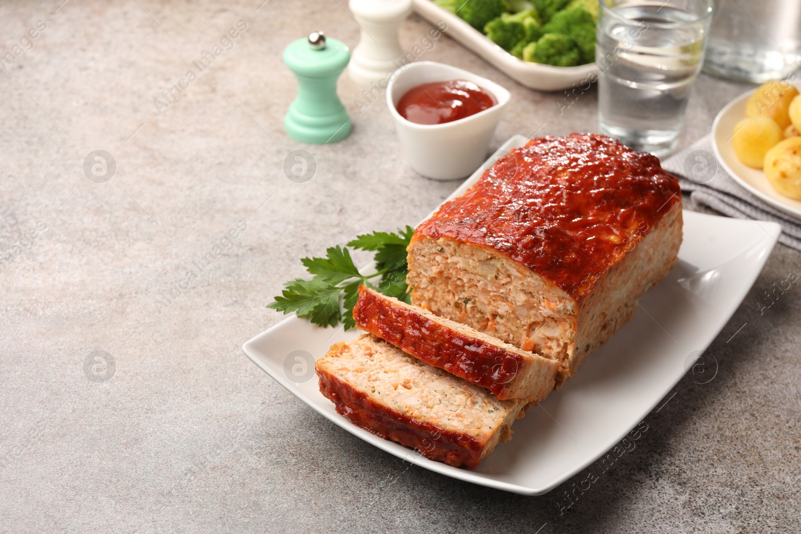
[{"label": "fresh green parsley sprig beside the meatloaf", "polygon": [[[300,263],[313,275],[311,280],[301,278],[284,284],[284,291],[267,307],[283,311],[296,311],[321,327],[344,323],[345,330],[356,327],[353,307],[356,306],[356,290],[365,283],[375,287],[384,295],[409,302],[406,292],[406,247],[412,239],[414,228],[407,226],[397,233],[373,232],[357,235],[346,247],[329,247],[325,258],[303,258]],[[353,264],[347,247],[362,251],[375,251],[376,271],[362,275]],[[377,287],[370,282],[381,277]]]}]

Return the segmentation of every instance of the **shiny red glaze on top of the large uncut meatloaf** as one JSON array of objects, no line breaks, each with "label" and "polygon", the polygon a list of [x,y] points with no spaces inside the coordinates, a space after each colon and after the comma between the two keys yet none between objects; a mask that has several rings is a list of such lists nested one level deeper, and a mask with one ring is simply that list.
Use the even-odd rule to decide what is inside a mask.
[{"label": "shiny red glaze on top of the large uncut meatloaf", "polygon": [[491,247],[580,300],[680,201],[654,155],[605,135],[546,136],[499,159],[413,241]]}]

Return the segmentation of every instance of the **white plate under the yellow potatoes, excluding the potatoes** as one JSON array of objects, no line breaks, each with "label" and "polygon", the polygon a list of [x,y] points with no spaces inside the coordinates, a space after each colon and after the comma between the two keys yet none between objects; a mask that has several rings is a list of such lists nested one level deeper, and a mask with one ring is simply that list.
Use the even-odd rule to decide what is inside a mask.
[{"label": "white plate under the yellow potatoes, excluding the potatoes", "polygon": [[746,102],[753,93],[754,90],[749,90],[739,95],[739,97],[720,110],[718,116],[714,118],[712,123],[712,150],[714,151],[714,157],[718,159],[723,170],[735,182],[751,191],[758,199],[770,204],[779,211],[783,211],[787,215],[801,219],[801,201],[779,195],[768,183],[762,169],[752,169],[743,165],[735,155],[735,147],[731,143],[731,137],[734,134],[737,123],[745,118]]}]

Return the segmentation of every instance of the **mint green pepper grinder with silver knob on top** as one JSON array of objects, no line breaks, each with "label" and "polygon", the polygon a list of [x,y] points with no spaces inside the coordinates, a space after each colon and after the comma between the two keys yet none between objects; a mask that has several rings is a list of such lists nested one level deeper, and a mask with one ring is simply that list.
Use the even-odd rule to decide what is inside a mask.
[{"label": "mint green pepper grinder with silver knob on top", "polygon": [[333,143],[350,133],[345,106],[336,96],[336,80],[350,61],[343,42],[321,31],[298,39],[284,50],[284,63],[298,78],[298,95],[289,106],[284,127],[302,143]]}]

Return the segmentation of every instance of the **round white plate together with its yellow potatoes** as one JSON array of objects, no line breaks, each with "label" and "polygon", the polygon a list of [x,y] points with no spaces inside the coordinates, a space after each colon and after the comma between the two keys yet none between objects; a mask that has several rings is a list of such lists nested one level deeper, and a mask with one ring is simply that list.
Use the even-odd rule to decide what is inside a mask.
[{"label": "round white plate together with its yellow potatoes", "polygon": [[[712,124],[714,156],[741,186],[801,219],[801,136],[794,135],[801,130],[788,130],[790,115],[801,123],[801,96],[794,96],[795,87],[787,92],[768,88],[759,98],[765,87],[741,94],[720,110]],[[757,97],[748,103],[752,95]],[[751,118],[743,124],[747,107]]]}]

